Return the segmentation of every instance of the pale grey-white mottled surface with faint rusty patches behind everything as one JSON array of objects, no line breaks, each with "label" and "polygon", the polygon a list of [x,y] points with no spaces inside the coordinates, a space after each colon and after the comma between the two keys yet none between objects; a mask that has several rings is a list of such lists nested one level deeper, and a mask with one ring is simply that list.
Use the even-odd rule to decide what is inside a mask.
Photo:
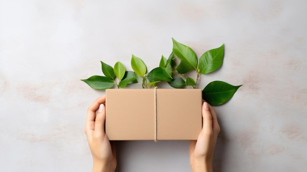
[{"label": "pale grey-white mottled surface with faint rusty patches behind everything", "polygon": [[[0,0],[0,171],[85,172],[87,107],[103,91],[79,79],[100,60],[151,70],[171,37],[201,55],[225,44],[203,75],[244,84],[216,107],[215,172],[307,169],[304,0]],[[139,88],[134,85],[132,88]],[[118,142],[118,172],[188,172],[187,141]]]}]

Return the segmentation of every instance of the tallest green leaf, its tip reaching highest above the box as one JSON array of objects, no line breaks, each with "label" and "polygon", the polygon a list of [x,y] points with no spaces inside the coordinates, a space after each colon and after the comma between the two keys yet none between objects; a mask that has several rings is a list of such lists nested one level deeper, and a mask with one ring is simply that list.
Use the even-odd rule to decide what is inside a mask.
[{"label": "tallest green leaf, its tip reaching highest above the box", "polygon": [[172,38],[172,40],[173,40],[173,52],[181,60],[180,64],[181,63],[189,64],[189,65],[187,64],[181,65],[181,67],[185,67],[186,69],[180,68],[180,70],[187,71],[187,72],[189,72],[191,69],[196,70],[197,69],[197,56],[195,52],[188,46],[180,44],[174,38]]}]

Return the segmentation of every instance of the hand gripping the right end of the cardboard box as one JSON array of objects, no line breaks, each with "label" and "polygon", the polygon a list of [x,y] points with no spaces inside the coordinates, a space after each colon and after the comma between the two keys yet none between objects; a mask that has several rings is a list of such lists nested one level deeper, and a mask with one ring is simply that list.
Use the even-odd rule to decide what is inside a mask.
[{"label": "hand gripping the right end of the cardboard box", "polygon": [[220,126],[213,107],[203,103],[203,129],[197,141],[191,140],[189,146],[192,172],[213,172],[212,159]]}]

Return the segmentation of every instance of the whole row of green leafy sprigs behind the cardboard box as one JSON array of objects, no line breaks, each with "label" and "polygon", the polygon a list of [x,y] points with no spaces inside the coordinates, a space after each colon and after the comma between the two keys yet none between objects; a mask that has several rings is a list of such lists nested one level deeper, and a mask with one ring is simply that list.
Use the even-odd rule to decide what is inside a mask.
[{"label": "whole row of green leafy sprigs behind the cardboard box", "polygon": [[[177,42],[174,38],[173,50],[168,58],[163,55],[159,67],[148,72],[143,60],[132,54],[131,67],[133,71],[126,71],[121,62],[117,62],[114,68],[101,62],[104,76],[94,75],[88,79],[82,79],[90,87],[96,90],[105,90],[117,86],[125,88],[128,84],[142,80],[142,87],[156,87],[161,81],[168,82],[174,88],[191,86],[197,88],[198,81],[202,74],[209,74],[219,69],[224,60],[224,44],[217,48],[203,53],[197,58],[196,53],[190,47]],[[179,61],[179,64],[177,65]],[[196,77],[188,77],[185,74],[196,71]],[[210,82],[203,89],[203,99],[211,105],[221,105],[233,97],[239,87],[230,85],[223,81]]]}]

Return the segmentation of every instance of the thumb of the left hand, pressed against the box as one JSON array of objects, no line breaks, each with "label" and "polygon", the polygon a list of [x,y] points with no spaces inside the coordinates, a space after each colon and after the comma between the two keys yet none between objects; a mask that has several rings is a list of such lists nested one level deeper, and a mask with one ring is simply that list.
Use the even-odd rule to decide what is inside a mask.
[{"label": "thumb of the left hand, pressed against the box", "polygon": [[103,104],[100,104],[99,110],[95,119],[95,137],[103,137],[104,136],[104,122],[105,122],[105,108]]}]

